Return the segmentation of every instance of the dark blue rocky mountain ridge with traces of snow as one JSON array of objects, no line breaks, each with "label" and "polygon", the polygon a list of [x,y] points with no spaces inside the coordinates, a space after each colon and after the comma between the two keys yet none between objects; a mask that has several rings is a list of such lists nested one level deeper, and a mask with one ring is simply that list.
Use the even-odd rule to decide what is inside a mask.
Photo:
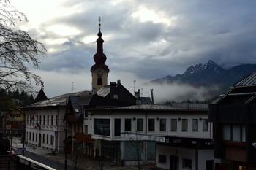
[{"label": "dark blue rocky mountain ridge with traces of snow", "polygon": [[223,69],[214,61],[207,63],[198,63],[195,66],[189,66],[183,74],[176,76],[167,75],[155,80],[153,83],[188,83],[192,85],[222,85],[230,87],[247,75],[256,71],[256,64],[241,64],[233,66],[230,69]]}]

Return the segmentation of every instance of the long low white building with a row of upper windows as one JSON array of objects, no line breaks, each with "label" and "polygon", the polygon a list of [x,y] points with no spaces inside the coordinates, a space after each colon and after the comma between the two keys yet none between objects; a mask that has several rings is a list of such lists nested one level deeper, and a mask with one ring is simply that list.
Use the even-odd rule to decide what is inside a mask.
[{"label": "long low white building with a row of upper windows", "polygon": [[95,149],[115,163],[211,170],[218,161],[204,104],[94,109],[91,123]]}]

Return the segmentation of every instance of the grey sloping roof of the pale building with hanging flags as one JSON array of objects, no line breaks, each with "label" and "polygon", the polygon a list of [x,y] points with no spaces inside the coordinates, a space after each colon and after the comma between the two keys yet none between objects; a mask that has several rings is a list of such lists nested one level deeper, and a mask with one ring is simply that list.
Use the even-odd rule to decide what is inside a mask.
[{"label": "grey sloping roof of the pale building with hanging flags", "polygon": [[31,104],[27,107],[24,108],[30,108],[30,107],[61,107],[61,106],[66,106],[66,102],[69,99],[69,96],[79,96],[82,94],[89,94],[91,93],[91,91],[80,91],[80,92],[75,92],[75,93],[66,93],[66,94],[62,94],[60,96],[56,96],[53,98],[48,98],[46,100],[43,101],[39,101],[37,103]]}]

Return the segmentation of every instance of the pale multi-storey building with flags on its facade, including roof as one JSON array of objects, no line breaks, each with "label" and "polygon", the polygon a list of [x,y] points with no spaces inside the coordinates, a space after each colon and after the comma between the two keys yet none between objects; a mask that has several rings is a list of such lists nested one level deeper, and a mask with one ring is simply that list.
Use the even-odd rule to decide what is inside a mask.
[{"label": "pale multi-storey building with flags on its facade, including roof", "polygon": [[[66,138],[64,116],[67,110],[67,99],[72,94],[78,95],[80,93],[67,93],[24,107],[26,144],[53,152],[64,152],[64,140]],[[71,129],[68,129],[67,136],[70,134]]]}]

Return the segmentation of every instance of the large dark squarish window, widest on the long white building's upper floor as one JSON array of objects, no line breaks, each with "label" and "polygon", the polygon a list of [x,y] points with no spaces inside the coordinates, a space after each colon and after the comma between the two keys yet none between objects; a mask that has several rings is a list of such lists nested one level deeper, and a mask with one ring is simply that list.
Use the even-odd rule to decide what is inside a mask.
[{"label": "large dark squarish window, widest on the long white building's upper floor", "polygon": [[110,136],[110,119],[94,119],[94,134]]}]

